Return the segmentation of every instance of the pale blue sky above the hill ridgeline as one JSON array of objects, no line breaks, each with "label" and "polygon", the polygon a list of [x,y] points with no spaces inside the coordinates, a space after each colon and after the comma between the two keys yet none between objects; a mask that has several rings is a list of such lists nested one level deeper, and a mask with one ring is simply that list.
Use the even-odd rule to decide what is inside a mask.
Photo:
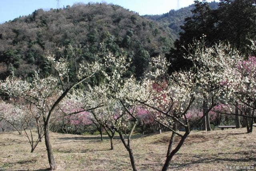
[{"label": "pale blue sky above the hill ridgeline", "polygon": [[[212,0],[208,0],[210,2]],[[216,0],[218,1],[218,0]],[[117,4],[126,9],[145,14],[163,14],[172,9],[178,9],[178,0],[59,0],[60,8],[74,3],[106,2]],[[179,8],[193,4],[194,0],[179,0]],[[0,0],[0,23],[13,20],[19,16],[32,14],[34,10],[42,8],[49,10],[57,8],[56,0]]]}]

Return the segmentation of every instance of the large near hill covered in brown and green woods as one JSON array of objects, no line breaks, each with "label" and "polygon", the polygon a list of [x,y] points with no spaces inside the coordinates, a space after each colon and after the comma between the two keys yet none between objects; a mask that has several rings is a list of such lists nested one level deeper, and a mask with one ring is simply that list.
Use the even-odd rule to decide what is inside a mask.
[{"label": "large near hill covered in brown and green woods", "polygon": [[76,4],[47,12],[39,9],[0,25],[0,77],[5,78],[12,70],[16,76],[27,77],[38,68],[47,74],[50,66],[44,54],[68,44],[80,44],[79,60],[90,60],[101,42],[117,55],[127,52],[133,61],[131,72],[141,76],[150,57],[168,52],[173,41],[168,27],[117,5]]}]

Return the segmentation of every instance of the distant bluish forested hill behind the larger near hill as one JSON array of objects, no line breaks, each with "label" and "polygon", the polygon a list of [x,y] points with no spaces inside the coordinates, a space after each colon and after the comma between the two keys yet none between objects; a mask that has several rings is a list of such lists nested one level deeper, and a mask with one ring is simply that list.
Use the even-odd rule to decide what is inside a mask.
[{"label": "distant bluish forested hill behind the larger near hill", "polygon": [[[211,9],[218,8],[218,2],[209,2]],[[181,32],[180,26],[184,24],[184,19],[192,16],[192,10],[195,8],[194,4],[180,8],[179,10],[170,10],[169,12],[162,15],[145,15],[144,17],[157,21],[164,25],[165,28],[170,28],[175,39],[179,37]]]}]

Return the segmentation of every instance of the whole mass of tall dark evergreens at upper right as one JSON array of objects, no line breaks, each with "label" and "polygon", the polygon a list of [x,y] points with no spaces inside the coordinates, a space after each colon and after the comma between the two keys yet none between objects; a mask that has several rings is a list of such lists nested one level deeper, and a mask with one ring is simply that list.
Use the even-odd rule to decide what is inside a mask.
[{"label": "whole mass of tall dark evergreens at upper right", "polygon": [[[185,49],[193,40],[206,35],[206,45],[218,41],[229,42],[242,53],[248,53],[249,39],[256,37],[256,6],[254,0],[220,0],[219,8],[213,10],[209,3],[196,0],[193,16],[185,19],[181,26],[180,39],[166,57],[172,61],[170,72],[191,67],[191,62],[183,58]],[[185,48],[184,48],[185,47]]]}]

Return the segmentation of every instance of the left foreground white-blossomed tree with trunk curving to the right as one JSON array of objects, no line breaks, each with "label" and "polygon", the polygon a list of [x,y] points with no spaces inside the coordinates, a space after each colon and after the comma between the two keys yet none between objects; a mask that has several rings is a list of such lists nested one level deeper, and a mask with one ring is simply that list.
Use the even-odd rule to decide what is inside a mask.
[{"label": "left foreground white-blossomed tree with trunk curving to the right", "polygon": [[[71,89],[74,89],[76,85],[82,82],[86,82],[86,80],[88,81],[104,65],[100,64],[97,60],[94,62],[84,62],[80,64],[76,79],[73,79],[74,82],[70,82],[69,56],[62,56],[59,60],[56,60],[54,55],[48,54],[46,58],[56,70],[57,77],[48,76],[46,78],[40,78],[36,72],[34,78],[32,78],[32,82],[9,77],[1,83],[0,87],[2,91],[9,95],[21,97],[40,109],[40,114],[43,115],[44,120],[44,138],[50,169],[56,169],[56,162],[50,144],[50,118],[54,111],[56,111],[58,104],[66,97]],[[75,60],[76,58],[72,59]],[[59,85],[61,85],[62,89],[59,88]]]}]

